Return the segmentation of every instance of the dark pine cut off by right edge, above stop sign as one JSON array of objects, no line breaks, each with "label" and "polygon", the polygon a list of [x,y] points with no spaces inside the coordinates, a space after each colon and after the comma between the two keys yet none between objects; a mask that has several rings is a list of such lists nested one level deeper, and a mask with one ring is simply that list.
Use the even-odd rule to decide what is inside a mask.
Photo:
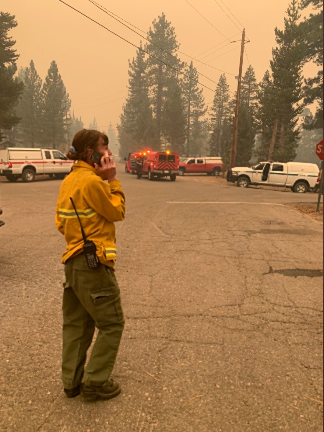
[{"label": "dark pine cut off by right edge, above stop sign", "polygon": [[315,77],[304,80],[304,103],[317,105],[315,115],[307,117],[304,127],[323,129],[323,0],[302,0],[301,8],[311,4],[317,13],[310,13],[299,27],[305,42],[304,62],[313,61],[320,69]]}]

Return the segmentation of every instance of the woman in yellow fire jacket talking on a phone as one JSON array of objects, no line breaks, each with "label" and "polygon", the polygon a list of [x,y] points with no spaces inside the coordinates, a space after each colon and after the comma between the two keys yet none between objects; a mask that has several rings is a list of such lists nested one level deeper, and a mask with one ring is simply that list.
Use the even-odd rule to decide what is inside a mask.
[{"label": "woman in yellow fire jacket talking on a phone", "polygon": [[[67,243],[62,258],[66,279],[63,284],[62,381],[68,398],[81,393],[85,400],[93,401],[113,398],[121,391],[110,374],[124,328],[114,274],[114,222],[125,217],[125,195],[116,179],[115,164],[109,157],[107,135],[83,129],[75,134],[72,145],[73,152],[69,151],[68,157],[77,163],[61,184],[55,218],[57,229]],[[91,159],[94,151],[103,154],[101,166]],[[95,247],[88,258],[83,253],[80,224],[87,241]],[[95,269],[91,268],[93,260]],[[98,335],[85,367],[96,327]]]}]

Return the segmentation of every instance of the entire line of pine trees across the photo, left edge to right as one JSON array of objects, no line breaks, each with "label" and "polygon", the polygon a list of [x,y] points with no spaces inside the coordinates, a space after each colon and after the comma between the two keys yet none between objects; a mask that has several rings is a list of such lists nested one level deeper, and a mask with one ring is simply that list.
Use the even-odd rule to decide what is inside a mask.
[{"label": "entire line of pine trees across the photo, left edge to right", "polygon": [[[301,20],[309,6],[312,12]],[[55,61],[44,82],[33,61],[17,73],[15,41],[8,37],[16,25],[14,16],[0,13],[0,132],[9,131],[18,144],[55,148],[70,141],[83,122],[70,112]],[[262,80],[252,65],[242,77],[236,165],[248,164],[252,156],[293,160],[301,128],[323,127],[323,0],[291,0],[283,29],[274,31],[276,46]],[[199,73],[192,61],[178,57],[175,28],[164,13],[154,19],[146,40],[129,61],[128,96],[117,125],[120,155],[169,147],[181,155],[221,156],[228,163],[236,94],[231,96],[226,74],[220,75],[208,108]],[[304,79],[302,68],[310,61],[319,71]],[[307,108],[311,104],[314,115]],[[95,118],[89,127],[98,127]],[[111,122],[109,131],[114,134]]]}]

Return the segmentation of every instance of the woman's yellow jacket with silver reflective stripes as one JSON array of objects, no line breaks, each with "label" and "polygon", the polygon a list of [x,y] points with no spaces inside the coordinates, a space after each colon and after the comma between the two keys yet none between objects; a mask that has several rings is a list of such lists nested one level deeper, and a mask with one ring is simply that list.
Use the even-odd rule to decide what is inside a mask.
[{"label": "woman's yellow jacket with silver reflective stripes", "polygon": [[83,250],[83,239],[72,197],[87,240],[96,244],[102,264],[113,266],[116,259],[114,222],[125,218],[125,195],[120,181],[105,182],[95,168],[78,161],[63,180],[56,205],[55,223],[67,246],[62,263]]}]

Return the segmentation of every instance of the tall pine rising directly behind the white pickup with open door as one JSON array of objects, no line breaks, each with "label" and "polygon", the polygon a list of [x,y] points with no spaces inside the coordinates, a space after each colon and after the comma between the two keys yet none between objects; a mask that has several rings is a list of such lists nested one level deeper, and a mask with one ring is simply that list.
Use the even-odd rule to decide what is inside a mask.
[{"label": "tall pine rising directly behind the white pickup with open door", "polygon": [[[275,123],[269,144],[269,158],[293,160],[298,145],[297,121],[303,107],[302,62],[304,44],[297,25],[300,15],[297,0],[292,0],[284,18],[284,30],[275,28],[278,46],[272,50],[270,66],[275,92]],[[277,132],[278,131],[278,132]]]}]

